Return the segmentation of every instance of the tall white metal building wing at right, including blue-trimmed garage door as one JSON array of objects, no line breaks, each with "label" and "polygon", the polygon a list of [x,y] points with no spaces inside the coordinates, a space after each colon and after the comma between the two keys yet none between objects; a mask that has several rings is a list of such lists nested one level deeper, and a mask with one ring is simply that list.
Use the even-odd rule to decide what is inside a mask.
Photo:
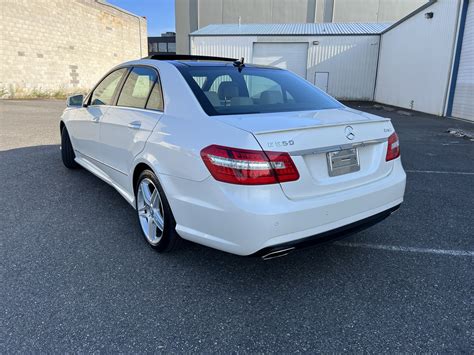
[{"label": "tall white metal building wing at right, including blue-trimmed garage door", "polygon": [[472,0],[432,0],[382,33],[375,101],[474,120]]}]

